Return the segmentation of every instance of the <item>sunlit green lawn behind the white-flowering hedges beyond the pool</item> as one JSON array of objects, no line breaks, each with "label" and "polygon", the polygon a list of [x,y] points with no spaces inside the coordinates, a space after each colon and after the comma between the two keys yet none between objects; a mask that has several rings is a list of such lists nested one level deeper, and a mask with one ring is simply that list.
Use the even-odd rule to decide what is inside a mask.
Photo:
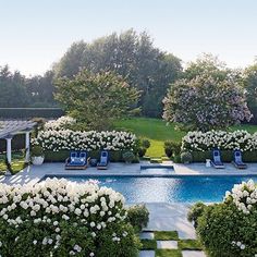
[{"label": "sunlit green lawn behind the white-flowering hedges beyond the pool", "polygon": [[[163,143],[164,140],[180,142],[186,134],[185,132],[175,130],[174,124],[169,124],[160,119],[149,118],[133,118],[115,122],[117,128],[125,128],[137,136],[146,137],[150,140],[151,146],[147,150],[147,156],[161,157],[164,156]],[[231,127],[234,130],[246,130],[249,133],[257,132],[257,125],[236,125]]]}]

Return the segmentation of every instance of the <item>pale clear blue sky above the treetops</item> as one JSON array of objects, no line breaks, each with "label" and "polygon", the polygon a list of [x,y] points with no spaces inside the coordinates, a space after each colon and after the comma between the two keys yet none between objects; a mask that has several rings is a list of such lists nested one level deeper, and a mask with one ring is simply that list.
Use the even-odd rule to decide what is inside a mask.
[{"label": "pale clear blue sky above the treetops", "polygon": [[211,52],[237,68],[257,56],[256,0],[0,0],[0,65],[42,74],[73,41],[132,27],[184,62]]}]

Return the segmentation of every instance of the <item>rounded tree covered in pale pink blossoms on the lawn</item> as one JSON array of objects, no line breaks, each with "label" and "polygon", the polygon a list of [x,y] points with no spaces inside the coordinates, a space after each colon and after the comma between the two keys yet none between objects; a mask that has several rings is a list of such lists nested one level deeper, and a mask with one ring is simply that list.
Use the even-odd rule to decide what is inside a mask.
[{"label": "rounded tree covered in pale pink blossoms on the lawn", "polygon": [[252,118],[241,86],[206,74],[176,81],[163,105],[163,119],[186,130],[225,128]]}]

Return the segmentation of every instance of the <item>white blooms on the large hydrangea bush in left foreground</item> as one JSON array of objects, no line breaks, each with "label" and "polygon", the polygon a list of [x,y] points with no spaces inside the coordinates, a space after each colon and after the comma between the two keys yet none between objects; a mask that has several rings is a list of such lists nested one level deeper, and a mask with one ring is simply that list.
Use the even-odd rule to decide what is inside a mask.
[{"label": "white blooms on the large hydrangea bush in left foreground", "polygon": [[[111,188],[99,187],[96,183],[78,184],[64,179],[47,179],[36,185],[23,186],[0,183],[2,222],[15,229],[27,221],[52,228],[48,236],[35,237],[33,245],[52,245],[58,248],[62,240],[61,224],[64,221],[75,227],[78,223],[87,227],[91,237],[96,237],[99,231],[112,222],[123,221],[125,217],[124,197]],[[0,242],[0,247],[2,244]],[[82,247],[75,244],[70,254],[79,252]]]}]

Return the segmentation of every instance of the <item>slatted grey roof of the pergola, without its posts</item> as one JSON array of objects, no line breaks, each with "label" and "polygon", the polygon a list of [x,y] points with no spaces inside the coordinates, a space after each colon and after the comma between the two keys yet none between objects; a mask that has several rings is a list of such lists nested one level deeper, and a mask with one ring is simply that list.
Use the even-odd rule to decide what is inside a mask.
[{"label": "slatted grey roof of the pergola, without its posts", "polygon": [[20,132],[32,130],[36,125],[33,121],[0,121],[0,138],[19,134]]}]

